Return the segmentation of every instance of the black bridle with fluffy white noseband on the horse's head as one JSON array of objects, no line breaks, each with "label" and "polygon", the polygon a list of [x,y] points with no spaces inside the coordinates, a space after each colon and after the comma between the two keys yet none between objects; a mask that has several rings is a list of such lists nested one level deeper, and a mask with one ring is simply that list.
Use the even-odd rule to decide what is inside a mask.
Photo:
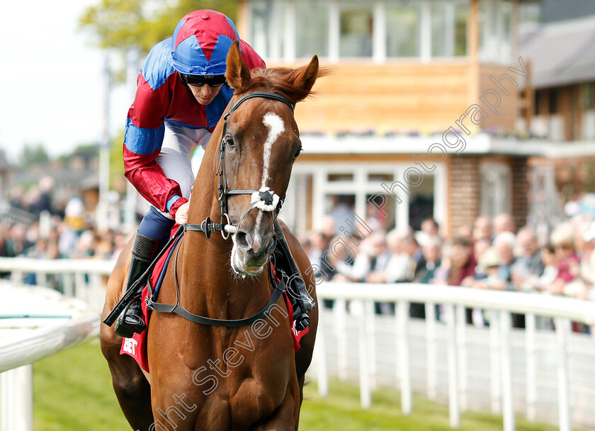
[{"label": "black bridle with fluffy white noseband on the horse's head", "polygon": [[[283,206],[283,201],[285,200],[285,196],[279,197],[276,195],[272,190],[269,190],[268,187],[263,187],[260,190],[248,190],[248,189],[232,189],[230,190],[227,187],[227,176],[225,174],[225,148],[226,148],[226,139],[225,134],[227,133],[227,117],[234,113],[239,105],[242,105],[246,100],[251,98],[265,98],[271,100],[278,100],[279,102],[285,103],[291,109],[293,113],[293,104],[291,101],[276,93],[269,93],[268,91],[252,91],[251,93],[246,93],[244,96],[239,98],[237,102],[233,102],[232,105],[229,107],[229,110],[225,115],[223,115],[223,132],[221,134],[221,143],[219,145],[219,152],[217,153],[217,164],[215,169],[217,169],[217,175],[219,176],[219,202],[221,207],[221,223],[213,223],[210,217],[207,217],[201,224],[186,224],[185,230],[187,231],[200,231],[204,232],[207,238],[210,238],[210,234],[212,231],[221,231],[222,236],[224,239],[229,238],[229,234],[234,234],[238,229],[239,226],[242,224],[242,220],[244,217],[254,208],[259,208],[263,211],[272,212],[275,211],[276,215],[279,214],[281,207]],[[229,214],[227,214],[227,199],[230,195],[251,195],[250,203],[251,205],[244,211],[242,217],[240,217],[237,226],[231,224],[229,220]],[[275,217],[276,217],[275,215]],[[224,224],[224,220],[227,221],[227,224]],[[223,232],[227,234],[223,234]]]}]

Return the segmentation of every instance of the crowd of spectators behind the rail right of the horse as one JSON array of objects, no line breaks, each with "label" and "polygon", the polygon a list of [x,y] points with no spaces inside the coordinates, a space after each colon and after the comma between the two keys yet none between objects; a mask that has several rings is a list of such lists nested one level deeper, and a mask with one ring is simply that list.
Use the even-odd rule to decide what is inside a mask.
[{"label": "crowd of spectators behind the rail right of the horse", "polygon": [[[419,231],[360,224],[346,234],[330,216],[322,226],[302,243],[324,280],[419,282],[595,300],[595,222],[589,215],[555,226],[545,238],[531,226],[517,229],[511,214],[482,215],[447,238],[431,217]],[[483,314],[467,311],[469,323],[487,324]],[[413,304],[410,314],[423,318],[424,307]],[[523,327],[523,316],[514,316],[514,325]]]}]

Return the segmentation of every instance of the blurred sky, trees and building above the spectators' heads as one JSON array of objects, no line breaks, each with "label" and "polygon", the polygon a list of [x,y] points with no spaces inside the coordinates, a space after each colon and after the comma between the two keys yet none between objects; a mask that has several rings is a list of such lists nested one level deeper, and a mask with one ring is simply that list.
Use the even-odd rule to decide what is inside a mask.
[{"label": "blurred sky, trees and building above the spectators' heads", "polygon": [[[508,213],[545,243],[565,219],[594,215],[592,2],[195,3],[8,6],[0,77],[19,84],[5,86],[0,107],[6,229],[16,214],[25,224],[44,209],[63,218],[73,196],[89,226],[134,229],[146,204],[121,153],[136,76],[150,47],[199,7],[232,17],[269,66],[317,54],[333,69],[297,108],[305,152],[283,211],[297,234],[321,231],[329,214],[339,234],[355,213],[385,231],[419,231],[432,217],[441,236],[465,236],[480,215]],[[449,127],[464,147],[447,148]]]}]

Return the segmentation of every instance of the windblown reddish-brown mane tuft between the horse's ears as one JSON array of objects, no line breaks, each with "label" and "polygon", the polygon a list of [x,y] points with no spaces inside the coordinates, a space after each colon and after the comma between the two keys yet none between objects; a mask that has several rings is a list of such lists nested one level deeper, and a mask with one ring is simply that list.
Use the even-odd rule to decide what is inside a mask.
[{"label": "windblown reddish-brown mane tuft between the horse's ears", "polygon": [[[302,67],[298,67],[297,69],[291,69],[289,67],[253,69],[251,71],[251,81],[245,86],[238,88],[234,94],[239,95],[254,91],[254,88],[263,88],[264,91],[270,91],[271,93],[282,93],[291,103],[295,104],[316,93],[315,91],[305,90],[293,84],[302,71]],[[327,69],[318,69],[319,78],[327,74],[329,74]]]}]

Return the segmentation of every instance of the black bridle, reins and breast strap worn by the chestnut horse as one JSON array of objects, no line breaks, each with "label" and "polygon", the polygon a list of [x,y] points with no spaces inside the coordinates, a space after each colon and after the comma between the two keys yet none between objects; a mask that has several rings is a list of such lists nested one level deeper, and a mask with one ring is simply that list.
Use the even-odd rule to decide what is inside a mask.
[{"label": "black bridle, reins and breast strap worn by the chestnut horse", "polygon": [[[285,103],[291,108],[291,112],[293,113],[293,104],[290,102],[288,98],[285,96],[281,96],[280,94],[276,93],[268,93],[266,91],[253,91],[251,93],[246,93],[244,96],[239,98],[236,103],[232,101],[232,105],[229,107],[229,110],[223,116],[223,120],[225,121],[223,125],[223,132],[221,136],[221,143],[219,146],[219,153],[217,154],[217,164],[216,169],[218,170],[217,175],[219,176],[219,201],[221,207],[221,223],[214,223],[207,217],[202,223],[200,224],[183,224],[181,225],[181,229],[176,231],[174,238],[177,236],[181,236],[183,231],[198,231],[203,232],[207,238],[210,238],[210,234],[213,231],[225,231],[227,232],[227,236],[225,234],[221,234],[223,239],[228,239],[230,234],[234,234],[238,229],[239,226],[242,224],[242,220],[244,217],[254,208],[259,208],[263,211],[275,211],[276,214],[279,213],[281,206],[283,205],[283,201],[285,197],[280,198],[276,195],[272,190],[269,190],[268,187],[261,188],[260,190],[246,190],[246,189],[234,189],[230,190],[227,187],[227,177],[225,176],[225,146],[226,146],[226,139],[225,134],[227,133],[227,117],[234,113],[235,110],[242,105],[246,100],[251,98],[266,98],[271,100],[278,100],[280,102]],[[227,214],[227,198],[229,195],[251,195],[251,205],[244,211],[242,217],[240,217],[237,226],[231,224],[229,220],[229,215]],[[227,224],[224,224],[224,219],[227,219]],[[174,240],[172,238],[171,240]],[[170,240],[170,241],[171,241]],[[175,245],[174,245],[175,247]],[[268,300],[266,306],[264,306],[261,311],[254,314],[253,316],[241,319],[217,319],[217,318],[209,318],[205,316],[198,316],[198,314],[193,314],[190,311],[186,310],[179,304],[179,289],[178,289],[178,253],[180,251],[180,247],[176,250],[176,256],[174,258],[174,286],[176,289],[176,304],[163,304],[152,300],[152,287],[151,283],[148,283],[148,294],[147,294],[147,309],[152,311],[159,311],[161,313],[175,313],[179,316],[185,318],[188,321],[199,323],[201,325],[208,325],[208,326],[225,326],[227,328],[239,328],[240,326],[247,326],[251,325],[255,321],[259,320],[260,318],[266,317],[266,314],[271,311],[271,307],[276,304],[279,297],[287,286],[285,285],[285,281],[283,281],[283,277],[280,277],[280,281],[277,281],[275,274],[273,273],[273,268],[271,264],[268,264],[268,275],[271,279],[271,283],[273,284],[273,293],[271,294],[271,299]]]}]

